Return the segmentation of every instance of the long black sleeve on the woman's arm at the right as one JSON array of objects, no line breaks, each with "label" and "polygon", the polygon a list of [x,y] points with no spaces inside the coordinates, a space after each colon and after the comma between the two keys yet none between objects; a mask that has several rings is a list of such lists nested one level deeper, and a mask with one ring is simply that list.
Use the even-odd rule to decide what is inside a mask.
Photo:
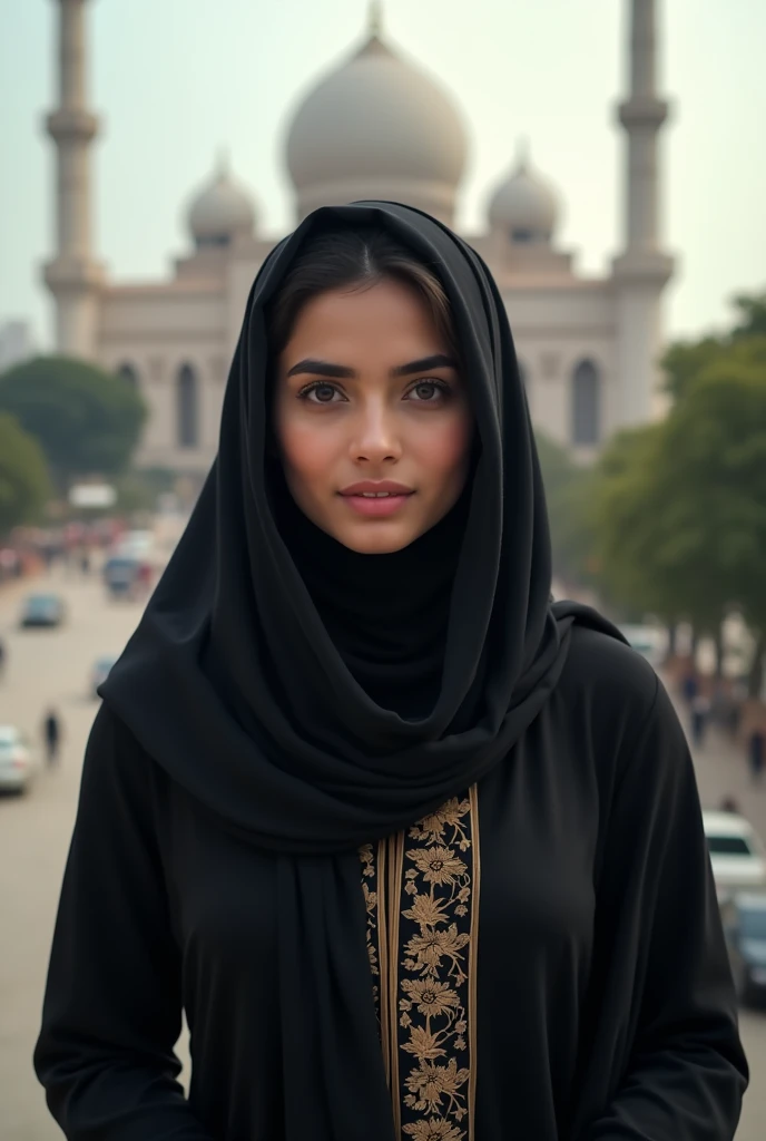
[{"label": "long black sleeve on the woman's arm at the right", "polygon": [[604,1035],[620,993],[634,996],[633,1035],[611,1103],[578,1136],[730,1141],[748,1068],[692,760],[661,686],[614,794],[598,916],[590,1045],[606,1065],[619,1057],[619,1035]]}]

